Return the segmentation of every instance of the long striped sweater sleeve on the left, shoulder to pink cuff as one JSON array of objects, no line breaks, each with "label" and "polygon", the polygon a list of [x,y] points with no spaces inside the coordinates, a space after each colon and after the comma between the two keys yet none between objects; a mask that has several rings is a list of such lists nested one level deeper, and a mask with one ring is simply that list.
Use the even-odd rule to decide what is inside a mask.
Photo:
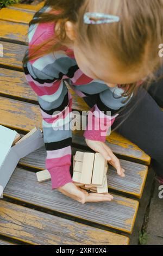
[{"label": "long striped sweater sleeve on the left, shoulder to pink cuff", "polygon": [[55,189],[73,182],[70,174],[72,96],[64,80],[76,70],[76,63],[59,52],[29,61],[23,68],[39,101],[47,151],[46,169],[51,174],[52,189]]}]

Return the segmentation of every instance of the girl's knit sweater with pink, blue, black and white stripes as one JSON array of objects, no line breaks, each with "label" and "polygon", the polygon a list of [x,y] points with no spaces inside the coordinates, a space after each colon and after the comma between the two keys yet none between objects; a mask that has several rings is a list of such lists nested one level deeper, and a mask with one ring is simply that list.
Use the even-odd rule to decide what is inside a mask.
[{"label": "girl's knit sweater with pink, blue, black and white stripes", "polygon": [[[44,7],[40,11],[48,10]],[[54,28],[54,22],[31,25],[26,54],[30,53],[32,45],[36,46],[47,39],[54,38]],[[45,45],[45,47],[49,46]],[[72,96],[66,82],[91,106],[87,122],[93,119],[91,119],[92,130],[87,126],[84,137],[94,141],[105,142],[106,132],[114,123],[118,115],[117,111],[124,106],[122,101],[126,98],[121,97],[123,90],[119,86],[109,88],[103,81],[92,80],[83,74],[73,51],[67,47],[64,51],[29,60],[23,68],[29,86],[37,94],[47,151],[46,169],[51,174],[52,189],[55,189],[73,182],[70,174],[72,131],[65,129],[71,120],[69,117],[72,111]],[[91,99],[94,103],[90,103]],[[58,115],[54,114],[55,111],[58,111]],[[111,116],[107,115],[107,111],[111,111]],[[96,125],[99,123],[100,128],[97,130]],[[62,129],[54,128],[58,126]]]}]

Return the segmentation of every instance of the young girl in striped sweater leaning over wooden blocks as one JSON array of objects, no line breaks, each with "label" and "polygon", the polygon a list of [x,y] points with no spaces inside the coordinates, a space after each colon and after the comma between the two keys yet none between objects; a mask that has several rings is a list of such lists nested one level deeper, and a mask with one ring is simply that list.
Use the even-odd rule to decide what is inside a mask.
[{"label": "young girl in striped sweater leaning over wooden blocks", "polygon": [[[30,22],[23,68],[39,101],[53,189],[81,203],[112,200],[109,193],[89,194],[73,184],[72,131],[64,129],[72,110],[66,82],[91,108],[87,145],[123,178],[120,161],[105,144],[112,125],[152,157],[162,181],[163,84],[161,78],[152,83],[162,74],[162,13],[162,0],[48,0]],[[63,129],[55,130],[59,120]],[[99,122],[105,132],[95,129]]]}]

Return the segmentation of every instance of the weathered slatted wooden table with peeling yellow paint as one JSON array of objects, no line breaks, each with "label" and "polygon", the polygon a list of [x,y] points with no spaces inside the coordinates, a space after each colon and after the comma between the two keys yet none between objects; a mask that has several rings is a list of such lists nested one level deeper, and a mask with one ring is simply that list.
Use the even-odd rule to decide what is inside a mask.
[{"label": "weathered slatted wooden table with peeling yellow paint", "polygon": [[[0,10],[0,124],[22,136],[42,126],[37,95],[22,68],[28,23],[41,6],[15,4]],[[87,111],[86,103],[70,91],[73,109]],[[73,132],[73,155],[77,150],[90,151],[82,134]],[[128,245],[151,158],[117,132],[106,143],[126,170],[122,179],[109,166],[111,203],[83,205],[52,190],[51,181],[37,182],[35,173],[45,169],[45,146],[21,159],[0,201],[0,245]]]}]

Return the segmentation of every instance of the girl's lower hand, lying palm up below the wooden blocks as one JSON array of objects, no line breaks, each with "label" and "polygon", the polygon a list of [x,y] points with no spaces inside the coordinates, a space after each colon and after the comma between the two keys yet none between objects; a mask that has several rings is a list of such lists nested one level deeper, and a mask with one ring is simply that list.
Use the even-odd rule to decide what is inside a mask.
[{"label": "girl's lower hand, lying palm up below the wooden blocks", "polygon": [[72,182],[67,183],[66,185],[57,188],[62,194],[65,194],[67,197],[70,197],[74,200],[77,200],[79,203],[85,204],[86,202],[102,202],[102,201],[111,201],[113,197],[109,193],[97,194],[97,193],[88,193],[80,187],[77,187]]}]

